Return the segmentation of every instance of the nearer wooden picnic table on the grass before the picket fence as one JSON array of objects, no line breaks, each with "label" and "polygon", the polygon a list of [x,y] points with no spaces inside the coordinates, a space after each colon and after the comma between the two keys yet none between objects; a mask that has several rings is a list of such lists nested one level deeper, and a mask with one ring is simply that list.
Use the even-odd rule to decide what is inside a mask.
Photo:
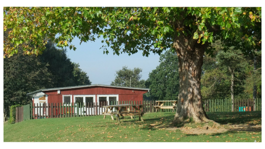
[{"label": "nearer wooden picnic table on the grass before the picket fence", "polygon": [[[133,107],[135,111],[131,111],[130,107]],[[138,108],[137,108],[138,107]],[[119,121],[119,116],[131,116],[131,118],[135,119],[135,115],[139,115],[139,120],[143,121],[142,115],[144,114],[142,111],[143,104],[117,104],[117,105],[105,105],[103,108],[106,108],[105,112],[102,113],[104,115],[104,119],[106,118],[106,115],[110,115],[111,119],[114,120],[113,115],[116,116],[116,121]],[[114,112],[111,112],[112,110],[115,110]]]}]

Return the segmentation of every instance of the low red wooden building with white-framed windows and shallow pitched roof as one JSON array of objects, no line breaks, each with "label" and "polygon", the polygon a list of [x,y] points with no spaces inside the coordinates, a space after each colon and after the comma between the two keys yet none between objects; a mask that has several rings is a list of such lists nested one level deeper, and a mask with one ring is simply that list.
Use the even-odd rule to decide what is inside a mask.
[{"label": "low red wooden building with white-framed windows and shallow pitched roof", "polygon": [[143,101],[142,95],[149,92],[150,89],[107,86],[101,84],[92,84],[85,86],[63,87],[52,89],[41,89],[27,96],[32,97],[33,104],[43,103],[64,103],[64,105],[73,105],[74,103],[96,103],[108,104],[116,101]]}]

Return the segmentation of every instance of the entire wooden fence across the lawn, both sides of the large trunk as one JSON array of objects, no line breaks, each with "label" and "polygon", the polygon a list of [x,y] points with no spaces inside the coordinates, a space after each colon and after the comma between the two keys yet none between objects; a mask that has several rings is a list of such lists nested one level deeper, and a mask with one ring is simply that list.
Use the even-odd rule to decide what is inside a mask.
[{"label": "entire wooden fence across the lawn, both sides of the large trunk", "polygon": [[[154,106],[156,102],[150,101],[111,101],[108,102],[91,102],[91,103],[43,103],[43,104],[27,104],[17,109],[16,118],[18,121],[28,119],[42,119],[42,118],[64,118],[64,117],[82,117],[82,116],[95,116],[101,115],[105,112],[104,105],[114,104],[143,104],[144,113],[155,112]],[[167,102],[166,106],[172,105],[171,102]],[[232,101],[231,99],[216,99],[205,100],[203,104],[206,112],[231,112]],[[130,110],[134,110],[130,107]],[[261,98],[251,99],[237,99],[234,103],[234,111],[261,111],[262,100]],[[172,112],[173,109],[164,109],[164,112]],[[158,112],[162,112],[161,109]]]}]

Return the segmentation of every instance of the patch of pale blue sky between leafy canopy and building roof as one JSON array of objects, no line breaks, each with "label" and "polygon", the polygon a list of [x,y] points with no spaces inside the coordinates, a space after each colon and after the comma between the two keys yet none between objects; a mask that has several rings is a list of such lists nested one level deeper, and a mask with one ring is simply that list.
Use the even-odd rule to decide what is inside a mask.
[{"label": "patch of pale blue sky between leafy canopy and building roof", "polygon": [[150,54],[149,57],[142,56],[142,52],[128,55],[127,53],[119,56],[113,55],[110,48],[109,54],[103,54],[101,38],[95,42],[82,42],[75,38],[71,44],[75,45],[76,51],[67,48],[67,57],[71,61],[79,63],[80,68],[87,73],[92,84],[109,85],[115,79],[115,72],[127,66],[129,69],[141,68],[141,79],[148,79],[149,73],[159,65],[159,55]]}]

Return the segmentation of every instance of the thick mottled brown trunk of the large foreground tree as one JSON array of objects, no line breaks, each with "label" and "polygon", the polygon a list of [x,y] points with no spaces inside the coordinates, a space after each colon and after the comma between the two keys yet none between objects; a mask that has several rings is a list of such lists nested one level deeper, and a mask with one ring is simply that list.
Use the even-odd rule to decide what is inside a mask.
[{"label": "thick mottled brown trunk of the large foreground tree", "polygon": [[[201,71],[206,44],[198,44],[194,39],[175,37],[174,48],[179,59],[179,98],[174,122],[189,118],[195,122],[208,122],[203,109],[201,95]],[[195,41],[195,42],[194,42]]]}]

